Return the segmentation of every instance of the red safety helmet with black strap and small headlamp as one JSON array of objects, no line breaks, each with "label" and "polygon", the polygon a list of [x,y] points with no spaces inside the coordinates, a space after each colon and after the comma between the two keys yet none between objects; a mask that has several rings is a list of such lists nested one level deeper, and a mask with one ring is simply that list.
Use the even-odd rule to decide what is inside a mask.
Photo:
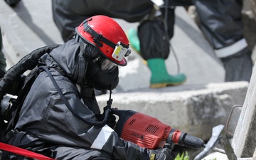
[{"label": "red safety helmet with black strap and small headlamp", "polygon": [[99,48],[102,55],[117,65],[127,65],[131,53],[129,40],[119,24],[108,16],[92,16],[75,28],[85,41]]}]

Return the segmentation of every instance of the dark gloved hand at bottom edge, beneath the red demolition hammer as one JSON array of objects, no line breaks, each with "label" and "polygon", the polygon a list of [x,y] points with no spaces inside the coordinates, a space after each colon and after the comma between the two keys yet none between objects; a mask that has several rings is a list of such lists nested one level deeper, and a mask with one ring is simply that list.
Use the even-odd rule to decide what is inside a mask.
[{"label": "dark gloved hand at bottom edge, beneath the red demolition hammer", "polygon": [[149,160],[174,160],[176,155],[171,149],[162,148],[149,151]]}]

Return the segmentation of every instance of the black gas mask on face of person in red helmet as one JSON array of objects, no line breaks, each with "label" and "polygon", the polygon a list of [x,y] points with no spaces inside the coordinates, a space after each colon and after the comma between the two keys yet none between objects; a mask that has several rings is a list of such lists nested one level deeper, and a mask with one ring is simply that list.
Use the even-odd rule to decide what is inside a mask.
[{"label": "black gas mask on face of person in red helmet", "polygon": [[116,64],[107,58],[90,44],[85,46],[84,57],[89,61],[87,70],[87,82],[97,90],[114,90],[119,82],[119,70]]}]

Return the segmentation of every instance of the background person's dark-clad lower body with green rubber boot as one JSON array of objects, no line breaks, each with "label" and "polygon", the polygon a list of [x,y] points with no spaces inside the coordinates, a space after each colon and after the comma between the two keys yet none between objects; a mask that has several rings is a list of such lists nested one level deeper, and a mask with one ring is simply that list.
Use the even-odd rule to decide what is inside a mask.
[{"label": "background person's dark-clad lower body with green rubber boot", "polygon": [[151,0],[52,0],[53,19],[64,41],[73,37],[74,28],[82,19],[93,15],[139,22],[138,33],[141,41],[139,53],[151,70],[150,87],[181,85],[186,81],[186,75],[183,73],[169,75],[165,65],[165,60],[169,56],[169,40],[174,35],[172,5],[178,5],[174,0],[166,2],[169,4],[166,3],[159,8]]}]

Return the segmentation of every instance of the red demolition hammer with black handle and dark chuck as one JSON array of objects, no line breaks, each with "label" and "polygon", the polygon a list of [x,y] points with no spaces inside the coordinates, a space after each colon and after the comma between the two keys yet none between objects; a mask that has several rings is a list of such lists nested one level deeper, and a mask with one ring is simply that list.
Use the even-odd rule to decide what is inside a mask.
[{"label": "red demolition hammer with black handle and dark chuck", "polygon": [[111,112],[119,117],[114,129],[119,137],[147,149],[161,148],[166,143],[172,148],[175,144],[193,149],[206,146],[202,139],[173,129],[149,115],[133,110],[111,109]]}]

